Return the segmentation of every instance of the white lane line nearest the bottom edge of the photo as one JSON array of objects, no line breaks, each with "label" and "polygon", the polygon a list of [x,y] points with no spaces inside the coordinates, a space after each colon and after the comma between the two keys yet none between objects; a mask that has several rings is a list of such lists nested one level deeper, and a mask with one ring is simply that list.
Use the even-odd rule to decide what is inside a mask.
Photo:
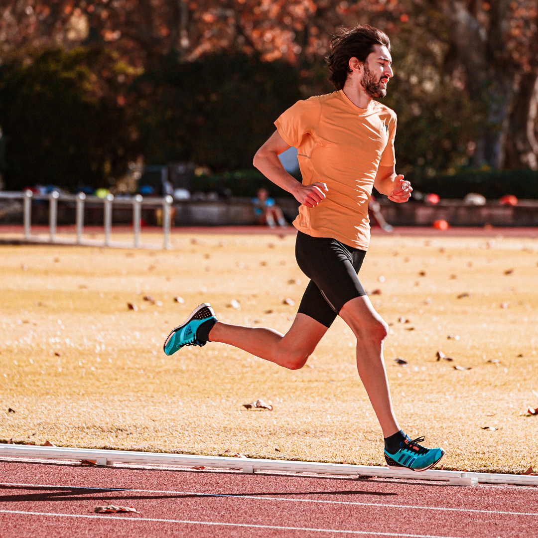
[{"label": "white lane line nearest the bottom edge of the photo", "polygon": [[254,525],[253,523],[224,523],[222,521],[189,521],[187,519],[122,518],[117,515],[54,514],[51,512],[24,512],[22,510],[0,510],[4,514],[52,515],[60,518],[115,519],[117,521],[158,521],[162,523],[187,523],[190,525],[218,525],[225,527],[248,527],[256,529],[309,530],[316,533],[369,534],[372,536],[407,536],[408,538],[462,538],[461,536],[435,536],[432,534],[379,533],[371,530],[315,529],[310,527],[280,527],[278,525]]}]

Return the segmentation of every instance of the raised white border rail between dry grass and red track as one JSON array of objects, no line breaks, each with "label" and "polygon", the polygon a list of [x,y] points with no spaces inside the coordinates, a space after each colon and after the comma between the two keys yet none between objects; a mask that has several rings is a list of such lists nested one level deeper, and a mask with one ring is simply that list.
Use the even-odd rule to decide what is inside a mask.
[{"label": "raised white border rail between dry grass and red track", "polygon": [[28,445],[0,445],[0,458],[38,458],[68,461],[93,460],[97,465],[130,463],[165,465],[184,468],[206,467],[238,469],[244,473],[257,471],[318,473],[324,475],[376,476],[383,478],[407,478],[413,480],[441,480],[455,486],[480,484],[515,484],[538,486],[538,476],[501,475],[493,473],[460,471],[394,470],[388,467],[351,465],[339,463],[292,462],[279,459],[244,459],[222,456],[192,456],[188,454],[161,454],[155,452],[131,452],[128,450],[98,450],[87,448],[35,447]]}]

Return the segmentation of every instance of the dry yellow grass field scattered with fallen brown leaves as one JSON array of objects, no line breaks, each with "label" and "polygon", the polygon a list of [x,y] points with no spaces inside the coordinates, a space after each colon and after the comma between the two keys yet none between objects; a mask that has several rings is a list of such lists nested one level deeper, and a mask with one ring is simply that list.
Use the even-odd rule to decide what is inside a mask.
[{"label": "dry yellow grass field scattered with fallen brown leaves", "polygon": [[[223,321],[286,331],[307,284],[294,240],[175,235],[166,252],[0,247],[0,439],[381,464],[341,320],[298,371],[217,343],[162,352],[204,301]],[[526,413],[538,406],[537,263],[533,239],[372,240],[360,279],[380,290],[371,300],[391,324],[394,407],[410,435],[447,449],[445,469],[538,465],[538,416]],[[438,350],[454,361],[438,361]],[[274,409],[243,407],[258,398]]]}]

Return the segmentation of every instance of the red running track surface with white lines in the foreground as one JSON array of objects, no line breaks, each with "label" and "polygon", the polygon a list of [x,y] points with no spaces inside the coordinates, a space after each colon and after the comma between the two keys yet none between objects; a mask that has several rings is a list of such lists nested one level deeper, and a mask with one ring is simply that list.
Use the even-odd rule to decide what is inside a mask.
[{"label": "red running track surface with white lines in the foreground", "polygon": [[[534,487],[19,462],[0,472],[2,537],[538,536]],[[93,512],[106,504],[139,513]]]}]

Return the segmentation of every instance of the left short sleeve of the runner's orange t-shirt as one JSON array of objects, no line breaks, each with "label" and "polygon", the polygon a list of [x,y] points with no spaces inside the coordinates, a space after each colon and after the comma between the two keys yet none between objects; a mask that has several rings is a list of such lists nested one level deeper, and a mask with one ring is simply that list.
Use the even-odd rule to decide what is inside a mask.
[{"label": "left short sleeve of the runner's orange t-shirt", "polygon": [[282,139],[293,147],[299,147],[304,137],[312,133],[320,120],[321,105],[317,97],[298,101],[288,108],[274,124]]}]

